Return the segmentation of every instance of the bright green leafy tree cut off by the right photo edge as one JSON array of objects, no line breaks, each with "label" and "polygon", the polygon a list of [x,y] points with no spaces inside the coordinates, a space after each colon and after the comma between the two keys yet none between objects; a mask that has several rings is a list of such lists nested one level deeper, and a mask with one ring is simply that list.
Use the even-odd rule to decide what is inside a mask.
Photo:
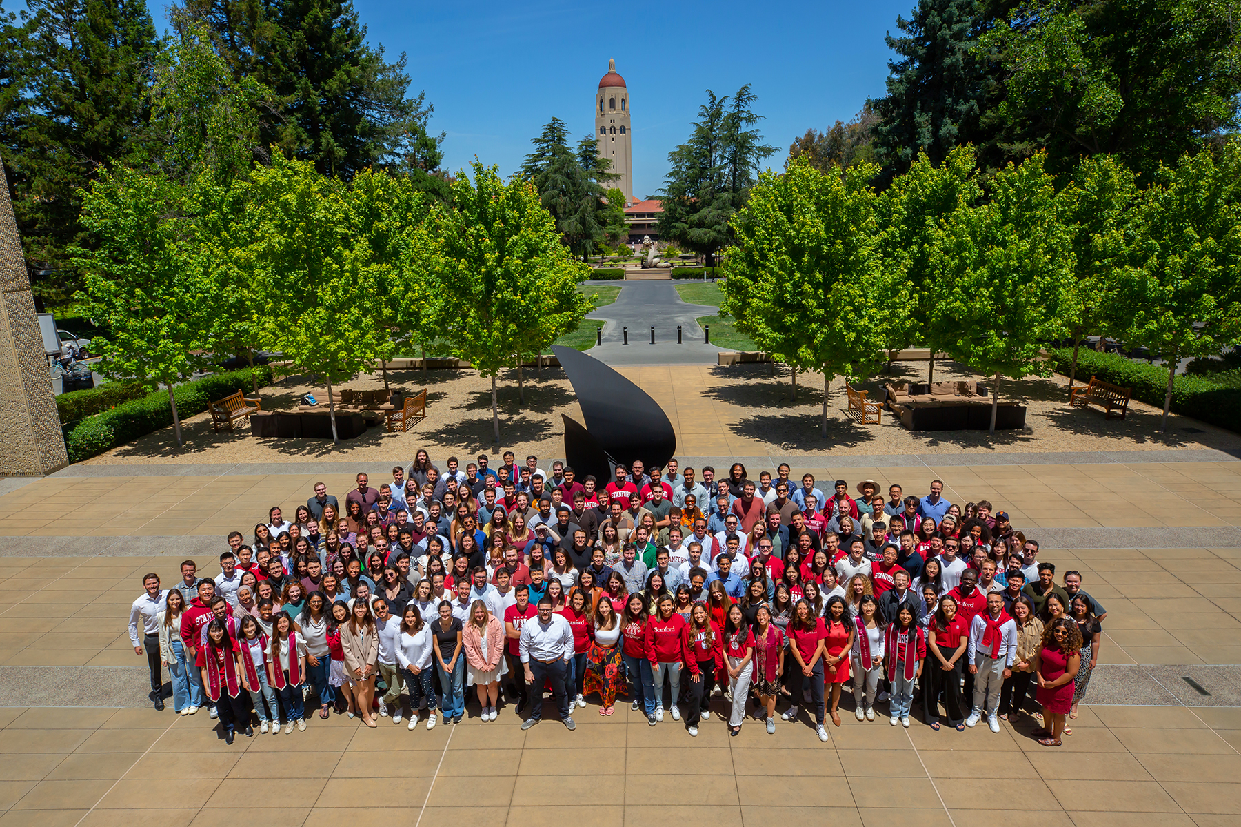
[{"label": "bright green leafy tree cut off by the right photo edge", "polygon": [[1160,165],[1145,191],[1143,268],[1128,270],[1119,301],[1132,314],[1129,341],[1168,366],[1160,430],[1168,428],[1176,363],[1210,356],[1241,337],[1241,145]]}]

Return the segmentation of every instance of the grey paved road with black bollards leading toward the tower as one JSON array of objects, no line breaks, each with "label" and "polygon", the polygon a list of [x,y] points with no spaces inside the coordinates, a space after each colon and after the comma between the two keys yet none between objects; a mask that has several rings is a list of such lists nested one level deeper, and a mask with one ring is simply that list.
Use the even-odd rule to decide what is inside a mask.
[{"label": "grey paved road with black bollards leading toward the tower", "polygon": [[[673,281],[623,281],[616,301],[587,316],[607,322],[603,343],[587,353],[606,365],[715,365],[722,348],[702,343],[702,329],[695,319],[714,316],[719,310],[681,301]],[[676,343],[678,325],[681,345]],[[629,329],[628,345],[622,343],[624,327]]]}]

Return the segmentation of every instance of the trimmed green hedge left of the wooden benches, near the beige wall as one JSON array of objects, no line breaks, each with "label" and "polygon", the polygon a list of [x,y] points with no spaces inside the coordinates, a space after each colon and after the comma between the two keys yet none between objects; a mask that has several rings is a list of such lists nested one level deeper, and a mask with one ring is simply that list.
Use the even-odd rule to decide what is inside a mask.
[{"label": "trimmed green hedge left of the wooden benches, near the beige wall", "polygon": [[[264,365],[256,367],[254,371],[258,373],[259,386],[271,384],[271,367]],[[103,386],[103,388],[107,387]],[[227,397],[237,391],[249,393],[252,389],[249,368],[246,367],[187,382],[172,388],[172,396],[176,399],[176,410],[184,422],[186,418],[206,410],[207,403],[212,399]],[[82,393],[89,392],[83,391]],[[69,461],[81,462],[171,424],[172,409],[168,404],[168,391],[160,389],[82,419],[68,429],[65,444],[68,448]]]}]

